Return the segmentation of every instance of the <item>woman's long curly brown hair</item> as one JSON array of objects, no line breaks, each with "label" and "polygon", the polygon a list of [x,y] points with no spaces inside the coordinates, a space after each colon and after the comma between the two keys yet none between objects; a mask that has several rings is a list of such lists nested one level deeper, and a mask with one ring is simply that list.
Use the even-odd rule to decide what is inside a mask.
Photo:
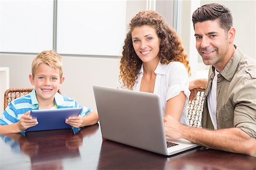
[{"label": "woman's long curly brown hair", "polygon": [[155,28],[158,37],[160,38],[159,58],[162,64],[168,64],[171,61],[179,61],[185,65],[188,74],[190,75],[190,67],[187,61],[187,54],[184,53],[183,45],[176,31],[172,29],[155,11],[141,11],[131,19],[128,33],[123,45],[121,57],[119,80],[122,80],[123,86],[133,90],[137,75],[141,69],[142,61],[135,53],[131,32],[135,27],[149,25]]}]

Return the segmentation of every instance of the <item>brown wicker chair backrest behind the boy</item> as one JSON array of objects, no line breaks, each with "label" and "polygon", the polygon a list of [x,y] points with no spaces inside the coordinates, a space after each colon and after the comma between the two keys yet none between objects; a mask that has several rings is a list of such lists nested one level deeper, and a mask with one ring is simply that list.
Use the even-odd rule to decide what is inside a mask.
[{"label": "brown wicker chair backrest behind the boy", "polygon": [[[34,88],[9,88],[5,91],[5,98],[3,100],[3,109],[11,103],[12,100],[17,99],[18,97],[25,96],[29,94]],[[59,94],[61,91],[58,90]]]}]

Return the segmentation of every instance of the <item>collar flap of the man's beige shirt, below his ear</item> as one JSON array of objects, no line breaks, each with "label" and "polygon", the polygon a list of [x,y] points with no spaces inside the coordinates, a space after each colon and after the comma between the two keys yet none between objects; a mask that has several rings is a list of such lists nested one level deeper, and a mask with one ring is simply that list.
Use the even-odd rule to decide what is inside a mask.
[{"label": "collar flap of the man's beige shirt, below his ear", "polygon": [[240,49],[236,48],[233,56],[229,59],[228,64],[221,71],[221,75],[228,80],[229,82],[232,80],[234,74],[236,73],[238,63],[241,60],[242,52]]}]

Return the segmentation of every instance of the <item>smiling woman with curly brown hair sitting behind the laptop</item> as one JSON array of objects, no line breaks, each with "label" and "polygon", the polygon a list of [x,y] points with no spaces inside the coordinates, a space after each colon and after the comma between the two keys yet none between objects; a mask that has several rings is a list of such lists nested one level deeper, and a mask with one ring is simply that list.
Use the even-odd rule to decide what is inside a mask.
[{"label": "smiling woman with curly brown hair sitting behind the laptop", "polygon": [[155,11],[131,19],[123,46],[119,88],[160,96],[163,116],[188,125],[190,67],[177,33]]}]

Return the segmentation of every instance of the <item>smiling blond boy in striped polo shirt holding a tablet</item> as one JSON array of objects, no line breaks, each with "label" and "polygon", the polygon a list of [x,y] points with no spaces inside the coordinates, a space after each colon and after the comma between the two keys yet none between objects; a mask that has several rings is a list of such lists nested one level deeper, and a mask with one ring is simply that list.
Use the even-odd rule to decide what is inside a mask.
[{"label": "smiling blond boy in striped polo shirt holding a tablet", "polygon": [[[64,82],[63,59],[54,50],[43,51],[32,62],[30,82],[35,89],[26,96],[11,101],[0,116],[0,134],[19,133],[38,124],[29,116],[34,109],[58,109],[82,107],[75,100],[60,95],[57,91]],[[69,117],[65,122],[75,128],[96,124],[98,114],[82,107],[77,117]]]}]

